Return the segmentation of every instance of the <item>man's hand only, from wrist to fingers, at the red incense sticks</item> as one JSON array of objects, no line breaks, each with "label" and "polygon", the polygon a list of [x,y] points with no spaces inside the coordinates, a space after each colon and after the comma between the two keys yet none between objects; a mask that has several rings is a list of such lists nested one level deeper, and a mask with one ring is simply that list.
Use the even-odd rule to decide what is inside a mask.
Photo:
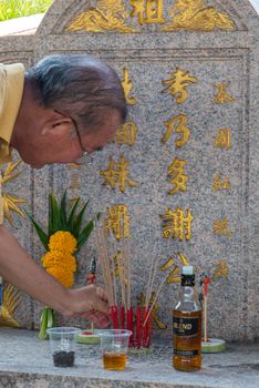
[{"label": "man's hand only, from wrist to fingers, at the red incense sticks", "polygon": [[103,288],[91,284],[69,293],[72,304],[65,315],[87,318],[101,328],[108,325],[108,304]]}]

